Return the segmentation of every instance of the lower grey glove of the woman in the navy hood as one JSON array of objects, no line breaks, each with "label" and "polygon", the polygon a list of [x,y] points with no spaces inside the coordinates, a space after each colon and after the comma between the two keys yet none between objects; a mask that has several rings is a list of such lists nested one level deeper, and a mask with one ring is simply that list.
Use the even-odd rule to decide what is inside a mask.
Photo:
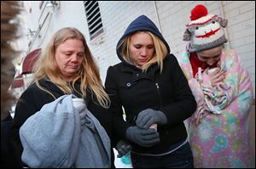
[{"label": "lower grey glove of the woman in the navy hood", "polygon": [[159,132],[155,132],[154,128],[128,127],[126,137],[142,147],[151,147],[160,142]]}]

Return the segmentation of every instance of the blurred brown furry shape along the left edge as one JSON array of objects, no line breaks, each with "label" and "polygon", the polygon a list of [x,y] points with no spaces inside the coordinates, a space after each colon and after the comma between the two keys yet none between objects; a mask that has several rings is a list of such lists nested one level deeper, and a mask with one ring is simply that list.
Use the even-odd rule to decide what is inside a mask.
[{"label": "blurred brown furry shape along the left edge", "polygon": [[11,42],[15,42],[19,35],[20,19],[18,14],[22,11],[17,1],[1,1],[1,120],[8,115],[15,97],[9,93],[9,86],[13,82],[11,69],[15,69],[12,59],[20,52],[15,50]]}]

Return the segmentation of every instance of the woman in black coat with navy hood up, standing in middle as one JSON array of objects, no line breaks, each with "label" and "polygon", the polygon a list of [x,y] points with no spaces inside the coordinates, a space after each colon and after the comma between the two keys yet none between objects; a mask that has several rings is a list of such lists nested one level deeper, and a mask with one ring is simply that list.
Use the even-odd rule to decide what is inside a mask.
[{"label": "woman in black coat with navy hood up, standing in middle", "polygon": [[120,38],[117,54],[121,63],[108,68],[105,87],[114,130],[132,145],[132,166],[193,167],[183,121],[194,113],[195,98],[158,28],[139,16]]}]

